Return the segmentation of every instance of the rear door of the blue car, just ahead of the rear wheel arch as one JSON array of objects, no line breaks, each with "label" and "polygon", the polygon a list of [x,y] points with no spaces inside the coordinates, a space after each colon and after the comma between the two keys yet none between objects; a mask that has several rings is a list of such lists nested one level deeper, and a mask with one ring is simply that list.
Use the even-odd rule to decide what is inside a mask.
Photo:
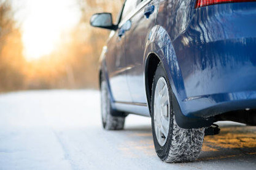
[{"label": "rear door of the blue car, just ahead of the rear wheel arch", "polygon": [[126,75],[133,103],[147,103],[143,58],[149,32],[155,26],[158,0],[140,1],[130,14],[130,31],[125,33]]}]

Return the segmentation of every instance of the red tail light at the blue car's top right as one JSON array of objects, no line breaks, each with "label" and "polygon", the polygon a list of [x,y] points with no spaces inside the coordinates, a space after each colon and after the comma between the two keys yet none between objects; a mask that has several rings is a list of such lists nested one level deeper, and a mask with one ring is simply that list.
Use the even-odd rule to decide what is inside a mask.
[{"label": "red tail light at the blue car's top right", "polygon": [[252,2],[256,0],[196,0],[195,8],[210,6],[214,4],[222,4],[228,2]]}]

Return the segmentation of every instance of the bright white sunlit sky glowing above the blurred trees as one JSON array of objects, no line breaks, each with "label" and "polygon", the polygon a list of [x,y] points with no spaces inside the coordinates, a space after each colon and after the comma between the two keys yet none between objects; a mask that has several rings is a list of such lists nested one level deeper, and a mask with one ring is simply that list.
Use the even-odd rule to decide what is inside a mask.
[{"label": "bright white sunlit sky glowing above the blurred trees", "polygon": [[76,0],[14,0],[14,6],[28,60],[50,54],[61,42],[61,33],[80,20]]}]

